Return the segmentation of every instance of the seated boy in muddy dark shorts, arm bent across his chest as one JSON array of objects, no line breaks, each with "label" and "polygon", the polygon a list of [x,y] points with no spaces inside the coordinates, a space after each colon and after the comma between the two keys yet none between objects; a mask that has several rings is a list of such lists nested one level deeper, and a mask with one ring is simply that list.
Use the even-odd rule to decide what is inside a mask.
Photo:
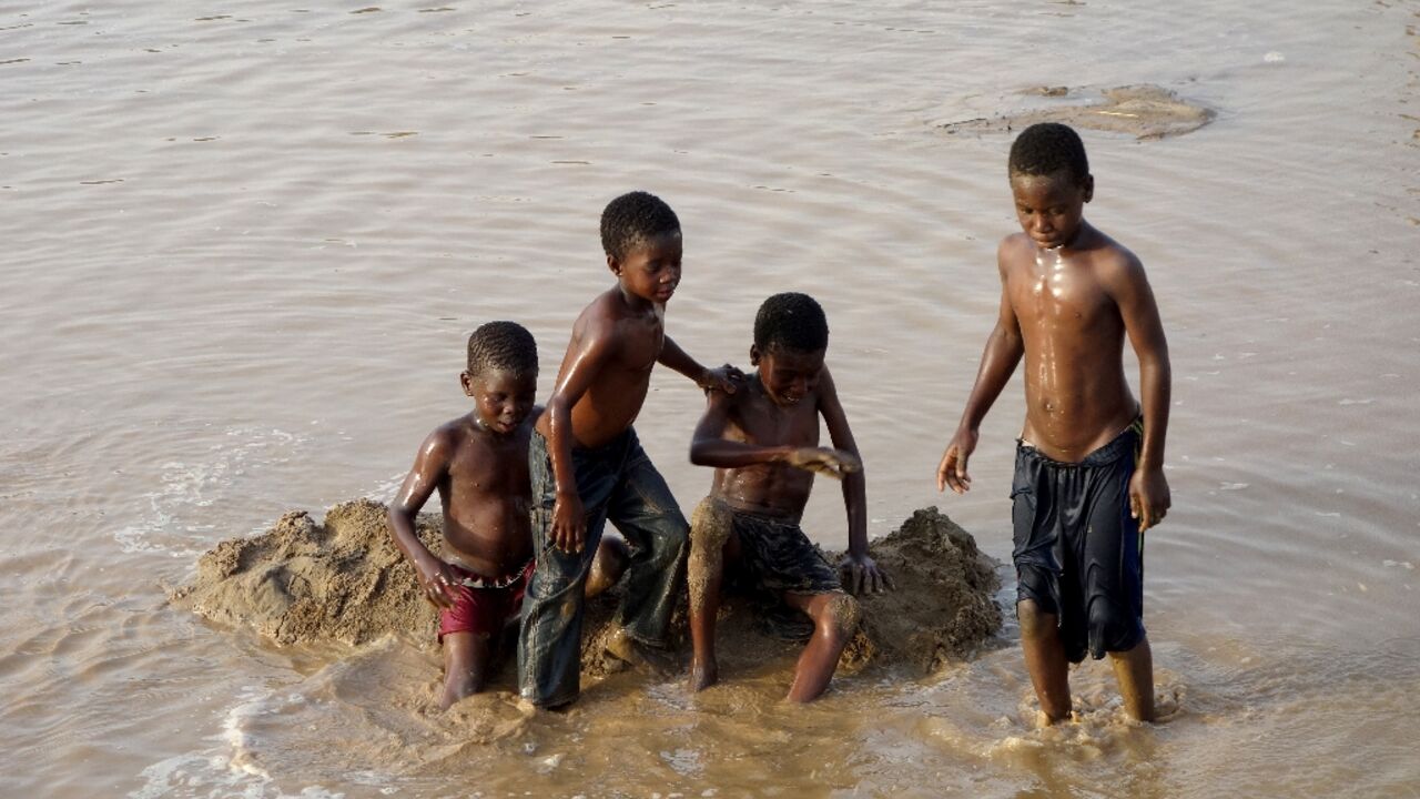
[{"label": "seated boy in muddy dark shorts, arm bent across his chest", "polygon": [[[859,610],[838,572],[809,543],[799,519],[814,473],[843,482],[848,556],[838,570],[849,589],[880,591],[892,581],[868,557],[868,506],[858,445],[824,365],[828,320],[807,294],[775,294],[754,320],[753,380],[736,394],[711,391],[690,444],[690,462],[714,466],[710,496],[690,526],[690,690],[716,682],[714,624],[726,560],[755,589],[814,621],[788,698],[807,702],[828,688]],[[836,449],[818,446],[824,418]]]}]

